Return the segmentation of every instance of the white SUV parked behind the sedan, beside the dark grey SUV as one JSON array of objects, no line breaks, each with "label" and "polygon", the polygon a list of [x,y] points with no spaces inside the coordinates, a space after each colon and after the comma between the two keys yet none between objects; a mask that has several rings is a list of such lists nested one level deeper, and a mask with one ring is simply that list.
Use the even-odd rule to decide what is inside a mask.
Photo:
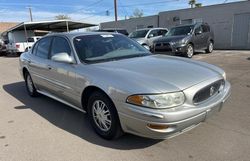
[{"label": "white SUV parked behind the sedan, beside the dark grey SUV", "polygon": [[167,32],[168,29],[166,28],[145,28],[131,32],[128,37],[136,40],[145,48],[150,49],[153,41],[164,36]]}]

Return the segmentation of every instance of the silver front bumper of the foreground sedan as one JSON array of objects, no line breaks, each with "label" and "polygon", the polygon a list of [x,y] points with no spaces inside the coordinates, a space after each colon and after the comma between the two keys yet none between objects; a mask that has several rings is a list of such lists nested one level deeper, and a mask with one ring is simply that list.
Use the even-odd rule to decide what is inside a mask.
[{"label": "silver front bumper of the foreground sedan", "polygon": [[[121,126],[125,132],[142,137],[170,138],[194,128],[220,111],[230,93],[231,85],[226,82],[222,93],[196,107],[184,104],[176,109],[156,110],[123,103],[122,112],[118,112]],[[168,128],[153,129],[148,126],[149,124],[167,125]]]}]

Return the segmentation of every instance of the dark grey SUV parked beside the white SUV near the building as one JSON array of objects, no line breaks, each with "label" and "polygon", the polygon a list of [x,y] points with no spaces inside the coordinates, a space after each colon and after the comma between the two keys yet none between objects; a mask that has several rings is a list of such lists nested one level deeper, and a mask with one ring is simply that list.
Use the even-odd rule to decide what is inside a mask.
[{"label": "dark grey SUV parked beside the white SUV near the building", "polygon": [[206,23],[173,27],[166,36],[154,41],[152,52],[158,54],[174,53],[191,58],[195,51],[212,53],[214,33]]}]

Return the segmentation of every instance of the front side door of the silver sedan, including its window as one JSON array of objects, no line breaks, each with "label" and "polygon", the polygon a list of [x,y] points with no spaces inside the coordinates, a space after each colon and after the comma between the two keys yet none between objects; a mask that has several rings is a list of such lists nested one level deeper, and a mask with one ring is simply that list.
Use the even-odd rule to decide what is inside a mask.
[{"label": "front side door of the silver sedan, including its window", "polygon": [[[55,36],[51,46],[50,60],[59,53],[67,53],[74,58],[71,45],[66,37]],[[49,77],[53,82],[51,88],[54,95],[66,100],[74,105],[77,102],[79,94],[77,94],[76,85],[76,64],[61,63],[50,61]]]}]

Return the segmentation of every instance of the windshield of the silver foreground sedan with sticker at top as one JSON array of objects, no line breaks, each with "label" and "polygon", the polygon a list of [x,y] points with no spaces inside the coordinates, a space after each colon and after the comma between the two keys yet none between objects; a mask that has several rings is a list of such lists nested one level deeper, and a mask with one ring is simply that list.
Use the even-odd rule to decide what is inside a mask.
[{"label": "windshield of the silver foreground sedan with sticker at top", "polygon": [[85,63],[97,63],[149,55],[133,40],[118,34],[86,35],[74,38],[78,57]]}]

